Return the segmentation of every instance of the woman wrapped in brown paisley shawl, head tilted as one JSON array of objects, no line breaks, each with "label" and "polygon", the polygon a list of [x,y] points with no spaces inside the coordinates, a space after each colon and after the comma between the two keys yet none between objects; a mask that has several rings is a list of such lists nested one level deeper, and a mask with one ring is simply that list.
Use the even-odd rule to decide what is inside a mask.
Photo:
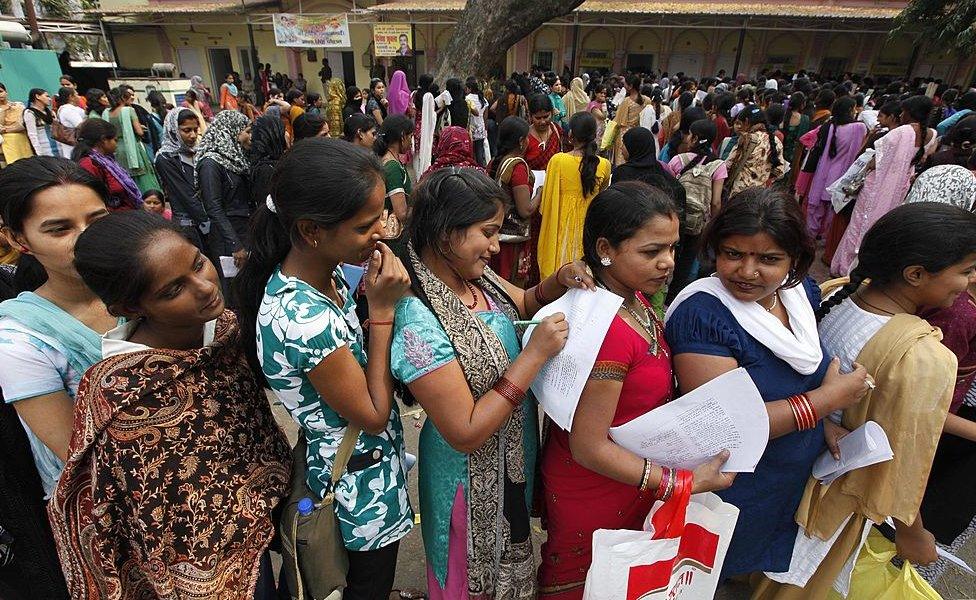
[{"label": "woman wrapped in brown paisley shawl, head tilted", "polygon": [[71,597],[273,600],[288,445],[217,270],[179,225],[141,210],[92,223],[74,263],[125,322],[78,387],[48,504]]}]

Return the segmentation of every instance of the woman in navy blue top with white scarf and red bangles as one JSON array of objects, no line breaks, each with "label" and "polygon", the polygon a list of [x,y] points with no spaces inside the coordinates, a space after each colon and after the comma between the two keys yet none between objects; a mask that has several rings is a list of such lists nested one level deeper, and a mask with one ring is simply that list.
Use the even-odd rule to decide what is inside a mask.
[{"label": "woman in navy blue top with white scarf and red bangles", "polygon": [[[820,344],[820,292],[807,277],[814,245],[795,202],[762,188],[733,196],[702,248],[716,274],[682,290],[665,315],[680,391],[744,367],[769,414],[770,442],[755,472],[719,493],[740,511],[722,573],[785,571],[813,463],[825,436],[844,433],[832,423],[825,431],[820,417],[856,403],[867,372],[840,375]],[[828,443],[836,452],[836,441]]]}]

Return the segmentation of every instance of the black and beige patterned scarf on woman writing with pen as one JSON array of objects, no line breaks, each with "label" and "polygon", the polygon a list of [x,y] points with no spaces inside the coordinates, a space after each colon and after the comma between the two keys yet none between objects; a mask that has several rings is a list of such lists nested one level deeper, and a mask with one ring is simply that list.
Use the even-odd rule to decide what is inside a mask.
[{"label": "black and beige patterned scarf on woman writing with pen", "polygon": [[[508,369],[505,346],[491,327],[465,308],[457,294],[428,269],[408,245],[410,263],[425,303],[447,333],[471,394],[477,401]],[[502,291],[495,273],[485,268],[478,285],[512,320],[518,318],[512,300]],[[509,522],[506,507],[525,498],[524,415],[512,413],[508,423],[468,455],[468,592],[473,597],[535,598],[535,563],[531,536],[513,539],[513,531],[528,530]]]}]

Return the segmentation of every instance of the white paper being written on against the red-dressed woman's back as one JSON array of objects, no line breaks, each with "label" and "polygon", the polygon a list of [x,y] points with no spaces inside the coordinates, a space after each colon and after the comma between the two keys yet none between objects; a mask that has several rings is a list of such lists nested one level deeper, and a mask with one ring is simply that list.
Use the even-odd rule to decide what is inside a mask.
[{"label": "white paper being written on against the red-dressed woman's back", "polygon": [[[531,388],[549,418],[566,431],[573,426],[583,386],[622,303],[623,298],[602,288],[594,291],[575,288],[542,307],[533,317],[538,321],[561,312],[569,323],[566,346],[543,365]],[[523,344],[528,344],[534,329],[532,326],[526,330]]]}]

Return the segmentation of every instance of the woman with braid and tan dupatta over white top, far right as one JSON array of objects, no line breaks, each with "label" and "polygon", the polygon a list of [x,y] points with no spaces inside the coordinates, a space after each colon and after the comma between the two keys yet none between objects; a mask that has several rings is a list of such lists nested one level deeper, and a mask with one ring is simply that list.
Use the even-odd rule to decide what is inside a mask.
[{"label": "woman with braid and tan dupatta over white top, far right", "polygon": [[[946,416],[956,360],[941,343],[941,332],[916,315],[952,306],[974,273],[976,216],[961,208],[906,204],[865,234],[850,282],[817,316],[824,347],[844,367],[861,361],[877,380],[863,402],[844,411],[844,427],[874,421],[887,434],[894,458],[846,473],[826,489],[811,481],[796,514],[812,538],[805,544],[806,560],[773,576],[784,583],[763,581],[754,598],[826,597],[845,563],[860,551],[866,528],[889,517],[900,557],[918,565],[938,558],[920,506],[943,428],[953,427]],[[957,481],[949,494],[965,494],[969,481]]]}]

